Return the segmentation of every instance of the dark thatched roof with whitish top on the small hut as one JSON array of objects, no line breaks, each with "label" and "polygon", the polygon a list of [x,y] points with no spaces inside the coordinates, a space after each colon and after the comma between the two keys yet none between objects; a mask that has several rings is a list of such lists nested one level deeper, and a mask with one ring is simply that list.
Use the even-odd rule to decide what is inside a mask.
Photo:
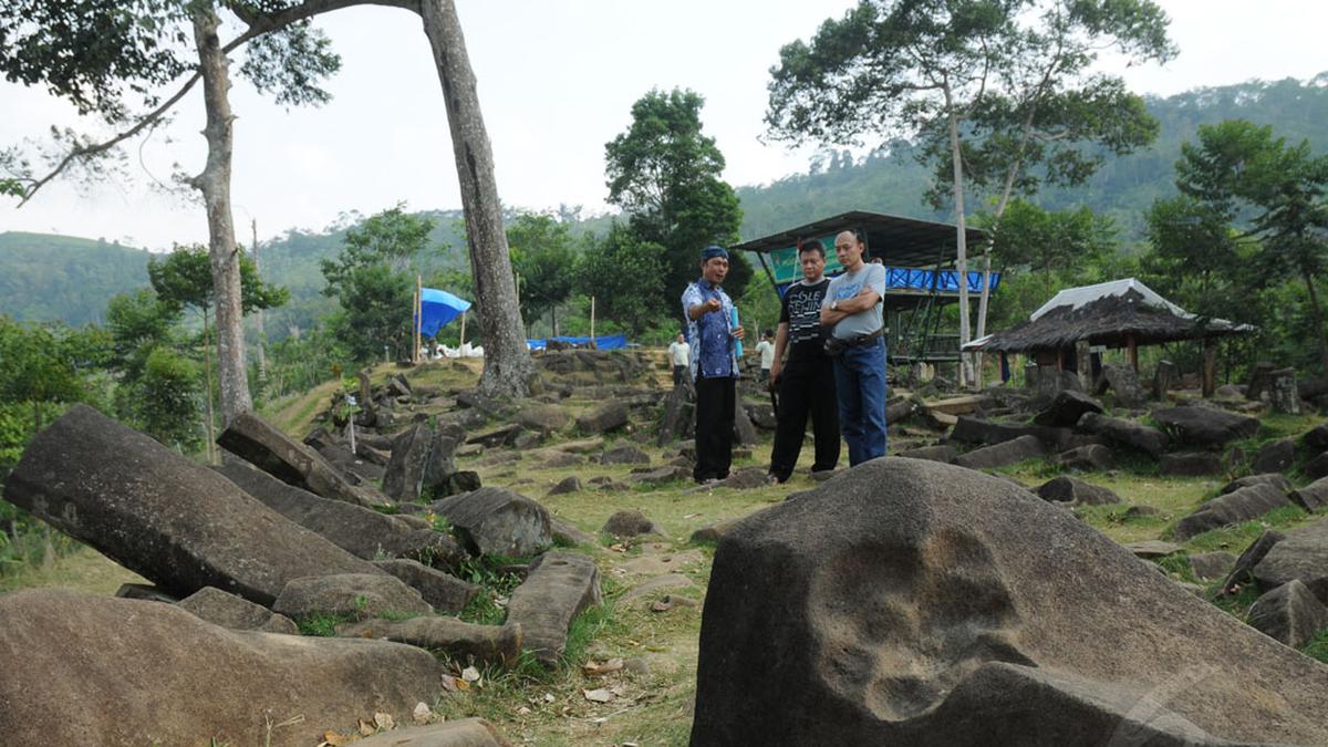
[{"label": "dark thatched roof with whitish top on the small hut", "polygon": [[1102,347],[1211,339],[1251,331],[1247,324],[1201,319],[1134,278],[1066,288],[1024,322],[973,340],[965,350],[1056,352],[1080,342]]}]

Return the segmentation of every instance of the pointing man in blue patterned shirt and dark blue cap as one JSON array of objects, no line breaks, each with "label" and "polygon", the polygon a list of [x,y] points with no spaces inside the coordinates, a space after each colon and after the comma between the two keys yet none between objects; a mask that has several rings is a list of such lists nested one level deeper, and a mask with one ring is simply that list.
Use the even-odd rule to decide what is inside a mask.
[{"label": "pointing man in blue patterned shirt and dark blue cap", "polygon": [[742,327],[733,324],[733,300],[720,287],[728,274],[728,250],[708,246],[701,251],[701,278],[683,291],[689,367],[696,383],[696,469],[692,477],[703,484],[728,477],[733,463],[738,377],[734,340],[742,339]]}]

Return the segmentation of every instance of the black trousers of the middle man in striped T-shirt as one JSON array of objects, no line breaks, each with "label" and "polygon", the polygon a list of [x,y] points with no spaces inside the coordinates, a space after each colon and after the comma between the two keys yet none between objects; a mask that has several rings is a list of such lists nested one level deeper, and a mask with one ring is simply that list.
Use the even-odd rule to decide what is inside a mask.
[{"label": "black trousers of the middle man in striped T-shirt", "polygon": [[780,481],[793,475],[811,416],[817,443],[813,471],[834,469],[839,461],[839,403],[835,399],[834,360],[823,354],[789,356],[780,372],[780,417],[770,451],[770,475]]}]

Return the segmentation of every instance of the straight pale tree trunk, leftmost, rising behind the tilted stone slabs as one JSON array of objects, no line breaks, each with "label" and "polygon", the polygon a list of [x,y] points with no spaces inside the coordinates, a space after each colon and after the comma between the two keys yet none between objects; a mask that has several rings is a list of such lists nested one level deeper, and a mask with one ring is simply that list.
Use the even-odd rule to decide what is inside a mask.
[{"label": "straight pale tree trunk, leftmost, rising behind the tilted stone slabs", "polygon": [[212,287],[216,296],[216,368],[222,395],[222,424],[244,411],[254,409],[248,375],[244,367],[244,332],[240,328],[240,266],[235,246],[235,223],[231,218],[231,104],[228,100],[230,61],[222,51],[216,28],[220,24],[211,3],[198,3],[190,11],[194,21],[194,44],[198,47],[199,72],[203,77],[203,104],[207,109],[207,165],[191,179],[203,193],[207,207],[207,243],[212,265]]}]

